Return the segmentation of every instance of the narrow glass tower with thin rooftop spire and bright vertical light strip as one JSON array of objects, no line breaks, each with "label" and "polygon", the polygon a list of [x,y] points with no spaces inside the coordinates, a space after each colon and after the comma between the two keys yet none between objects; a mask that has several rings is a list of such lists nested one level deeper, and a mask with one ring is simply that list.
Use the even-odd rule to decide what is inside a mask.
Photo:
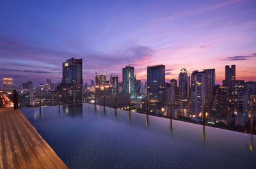
[{"label": "narrow glass tower with thin rooftop spire and bright vertical light strip", "polygon": [[134,67],[126,66],[123,68],[123,93],[131,94],[131,99],[136,98]]}]

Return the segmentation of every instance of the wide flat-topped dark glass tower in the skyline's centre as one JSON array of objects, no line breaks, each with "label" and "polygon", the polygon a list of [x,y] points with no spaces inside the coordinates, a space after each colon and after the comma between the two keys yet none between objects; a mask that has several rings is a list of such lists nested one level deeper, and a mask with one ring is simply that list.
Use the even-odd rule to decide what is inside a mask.
[{"label": "wide flat-topped dark glass tower in the skyline's centre", "polygon": [[147,67],[148,108],[151,112],[164,105],[165,66]]}]

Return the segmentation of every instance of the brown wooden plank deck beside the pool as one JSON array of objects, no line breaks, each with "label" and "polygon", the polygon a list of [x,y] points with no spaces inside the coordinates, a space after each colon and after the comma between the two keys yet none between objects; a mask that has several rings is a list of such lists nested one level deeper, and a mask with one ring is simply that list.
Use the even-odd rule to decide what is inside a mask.
[{"label": "brown wooden plank deck beside the pool", "polygon": [[13,108],[0,108],[0,168],[67,168],[35,127]]}]

